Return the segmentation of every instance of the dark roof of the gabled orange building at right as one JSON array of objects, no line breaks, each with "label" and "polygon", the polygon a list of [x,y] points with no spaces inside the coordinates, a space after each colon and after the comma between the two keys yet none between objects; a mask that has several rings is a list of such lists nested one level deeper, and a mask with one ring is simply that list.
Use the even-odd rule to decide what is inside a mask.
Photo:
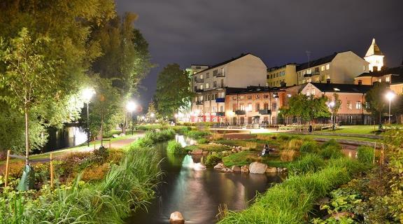
[{"label": "dark roof of the gabled orange building at right", "polygon": [[371,90],[372,85],[355,84],[334,84],[334,83],[311,83],[317,87],[320,92],[353,92],[366,93]]}]

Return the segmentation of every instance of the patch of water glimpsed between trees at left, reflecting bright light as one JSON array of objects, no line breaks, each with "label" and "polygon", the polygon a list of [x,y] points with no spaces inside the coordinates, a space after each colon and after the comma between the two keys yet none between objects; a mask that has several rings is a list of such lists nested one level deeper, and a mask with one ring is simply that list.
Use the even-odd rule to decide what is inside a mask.
[{"label": "patch of water glimpsed between trees at left, reflecting bright light", "polygon": [[87,141],[87,133],[81,127],[51,128],[48,133],[48,143],[42,148],[42,152],[44,153],[61,148],[78,146]]}]

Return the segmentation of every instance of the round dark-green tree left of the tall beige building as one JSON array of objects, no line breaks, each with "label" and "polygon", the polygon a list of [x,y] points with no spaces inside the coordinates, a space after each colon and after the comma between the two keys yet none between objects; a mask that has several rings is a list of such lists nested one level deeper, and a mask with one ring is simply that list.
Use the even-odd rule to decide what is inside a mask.
[{"label": "round dark-green tree left of the tall beige building", "polygon": [[188,73],[178,64],[165,66],[157,78],[154,97],[158,113],[171,118],[181,106],[188,104],[191,97]]}]

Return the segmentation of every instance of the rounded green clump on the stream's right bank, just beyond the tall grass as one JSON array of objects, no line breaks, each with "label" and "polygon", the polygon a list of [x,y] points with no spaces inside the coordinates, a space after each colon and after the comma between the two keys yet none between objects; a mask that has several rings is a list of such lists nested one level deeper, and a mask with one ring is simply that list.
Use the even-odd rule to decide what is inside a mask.
[{"label": "rounded green clump on the stream's right bank, just beyond the tall grass", "polygon": [[306,174],[308,172],[317,172],[325,165],[325,161],[319,155],[308,154],[302,159],[290,163],[288,169],[291,174]]}]

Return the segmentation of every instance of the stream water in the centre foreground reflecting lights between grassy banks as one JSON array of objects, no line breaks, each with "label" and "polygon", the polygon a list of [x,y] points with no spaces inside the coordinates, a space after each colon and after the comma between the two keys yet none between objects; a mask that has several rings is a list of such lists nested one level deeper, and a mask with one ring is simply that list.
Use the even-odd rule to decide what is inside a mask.
[{"label": "stream water in the centre foreground reflecting lights between grassy banks", "polygon": [[[191,139],[177,136],[176,141],[190,144]],[[276,174],[220,173],[213,169],[195,170],[200,157],[173,156],[166,153],[167,144],[157,145],[162,162],[164,183],[147,210],[136,211],[127,223],[169,223],[169,216],[180,211],[185,223],[208,224],[217,221],[218,207],[231,210],[246,209],[256,192],[262,193],[281,178]]]}]

